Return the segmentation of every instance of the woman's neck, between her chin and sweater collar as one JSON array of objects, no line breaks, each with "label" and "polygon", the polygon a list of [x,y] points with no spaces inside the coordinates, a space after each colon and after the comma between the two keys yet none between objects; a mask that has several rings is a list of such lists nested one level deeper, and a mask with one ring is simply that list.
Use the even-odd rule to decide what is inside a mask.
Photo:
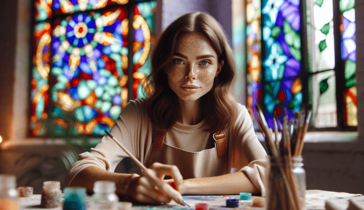
[{"label": "woman's neck, between her chin and sweater collar", "polygon": [[196,101],[183,101],[178,99],[181,108],[181,118],[177,120],[178,123],[194,125],[198,124],[202,120],[202,114],[200,110],[200,99]]}]

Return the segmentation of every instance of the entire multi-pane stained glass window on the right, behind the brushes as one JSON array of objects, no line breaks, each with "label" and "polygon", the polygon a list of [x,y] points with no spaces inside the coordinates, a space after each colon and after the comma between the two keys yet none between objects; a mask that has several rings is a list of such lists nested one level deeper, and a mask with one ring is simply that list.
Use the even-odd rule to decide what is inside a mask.
[{"label": "entire multi-pane stained glass window on the right, behind the brushes", "polygon": [[[300,2],[261,0],[261,4],[257,4],[246,1],[247,107],[259,103],[272,128],[274,112],[282,120],[283,110],[287,108],[292,119],[302,103],[311,103],[312,128],[355,129],[354,0],[340,0],[337,5],[332,0],[310,0],[304,6]],[[256,27],[261,27],[261,44],[259,39],[251,36],[251,25],[257,18],[252,11],[260,10],[258,20],[261,21]],[[251,70],[252,62],[260,61],[251,59],[254,41],[259,43],[257,46],[262,46],[258,51],[261,52],[258,57],[261,66],[256,65],[254,71],[259,72],[254,77],[258,79],[257,85],[252,82],[254,74]],[[251,88],[254,86],[260,92]],[[252,90],[258,94],[253,95]],[[342,97],[337,99],[337,95]]]}]

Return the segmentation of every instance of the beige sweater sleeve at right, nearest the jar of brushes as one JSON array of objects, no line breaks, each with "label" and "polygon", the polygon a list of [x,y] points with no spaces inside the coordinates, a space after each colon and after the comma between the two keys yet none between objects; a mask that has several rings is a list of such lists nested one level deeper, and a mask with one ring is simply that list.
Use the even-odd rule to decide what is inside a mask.
[{"label": "beige sweater sleeve at right, nearest the jar of brushes", "polygon": [[[266,167],[266,152],[254,131],[253,121],[247,108],[238,105],[239,114],[232,130],[235,137],[237,154],[243,165],[240,164],[241,172],[244,172],[253,185],[265,196],[264,180]],[[239,165],[239,164],[238,164]]]}]

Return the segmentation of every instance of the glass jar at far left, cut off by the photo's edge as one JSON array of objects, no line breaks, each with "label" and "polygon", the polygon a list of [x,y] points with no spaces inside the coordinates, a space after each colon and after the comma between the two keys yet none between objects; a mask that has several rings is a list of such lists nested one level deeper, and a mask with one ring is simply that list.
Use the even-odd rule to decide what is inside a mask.
[{"label": "glass jar at far left, cut off by the photo's edge", "polygon": [[0,174],[0,209],[18,209],[18,191],[16,190],[16,177]]}]

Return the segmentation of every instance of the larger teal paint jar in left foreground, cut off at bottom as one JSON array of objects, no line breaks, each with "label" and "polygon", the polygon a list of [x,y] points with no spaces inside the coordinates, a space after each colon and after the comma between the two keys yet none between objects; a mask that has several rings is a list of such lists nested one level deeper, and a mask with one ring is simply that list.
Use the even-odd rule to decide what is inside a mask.
[{"label": "larger teal paint jar in left foreground, cut off at bottom", "polygon": [[85,210],[86,188],[66,187],[64,189],[63,210]]}]

